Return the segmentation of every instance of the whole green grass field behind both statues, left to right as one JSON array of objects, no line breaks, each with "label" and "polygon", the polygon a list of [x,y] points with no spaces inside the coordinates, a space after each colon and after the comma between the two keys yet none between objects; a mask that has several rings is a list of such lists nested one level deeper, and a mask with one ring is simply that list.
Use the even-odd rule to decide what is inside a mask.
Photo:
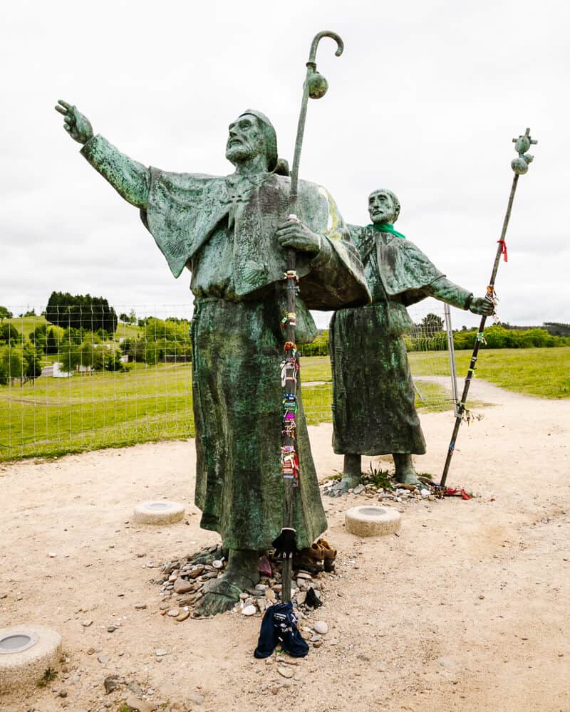
[{"label": "whole green grass field behind both statues, left to right", "polygon": [[[469,352],[457,352],[460,385],[469,360]],[[418,409],[451,409],[445,389],[421,378],[447,375],[447,352],[410,354],[410,365],[424,399],[417,397]],[[303,389],[307,421],[330,422],[328,357],[304,358],[302,373],[305,384],[321,382]],[[477,375],[524,394],[567,398],[570,348],[482,350]],[[0,387],[0,461],[193,435],[190,364],[135,364],[125,373],[41,377],[35,384]]]}]

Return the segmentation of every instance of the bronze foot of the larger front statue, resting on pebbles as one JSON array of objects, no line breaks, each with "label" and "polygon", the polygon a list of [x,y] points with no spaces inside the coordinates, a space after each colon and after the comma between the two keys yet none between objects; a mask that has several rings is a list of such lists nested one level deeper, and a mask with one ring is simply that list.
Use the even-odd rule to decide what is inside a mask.
[{"label": "bronze foot of the larger front statue, resting on pebbles", "polygon": [[259,582],[258,560],[257,551],[230,550],[224,574],[204,587],[206,593],[194,609],[195,616],[215,616],[233,608],[239,594]]}]

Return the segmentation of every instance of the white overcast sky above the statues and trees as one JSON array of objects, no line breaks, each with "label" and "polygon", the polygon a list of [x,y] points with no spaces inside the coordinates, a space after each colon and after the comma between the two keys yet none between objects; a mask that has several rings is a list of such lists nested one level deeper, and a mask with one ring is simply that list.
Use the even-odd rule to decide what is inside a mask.
[{"label": "white overcast sky above the statues and trees", "polygon": [[140,162],[209,174],[232,172],[227,125],[258,108],[291,162],[311,39],[331,29],[345,52],[319,46],[330,88],[309,103],[301,177],[326,185],[356,224],[369,222],[371,190],[392,189],[398,230],[482,295],[511,140],[531,127],[539,145],[519,179],[499,317],[570,322],[566,3],[65,0],[5,3],[1,14],[0,304],[16,313],[52,290],[121,311],[183,313],[191,299],[189,273],[172,277],[138,211],[79,155],[58,98]]}]

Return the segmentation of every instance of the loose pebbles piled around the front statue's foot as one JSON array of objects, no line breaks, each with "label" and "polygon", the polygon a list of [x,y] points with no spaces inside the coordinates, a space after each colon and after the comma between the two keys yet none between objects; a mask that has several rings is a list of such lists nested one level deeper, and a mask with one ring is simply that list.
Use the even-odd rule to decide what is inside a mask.
[{"label": "loose pebbles piled around the front statue's foot", "polygon": [[[192,615],[192,609],[204,596],[204,586],[222,575],[227,565],[220,547],[212,546],[181,559],[167,561],[162,567],[162,578],[152,580],[160,585],[160,614],[182,622]],[[306,604],[309,589],[314,590],[318,600],[323,600],[327,580],[334,574],[318,572],[311,574],[294,570],[291,581],[291,601],[297,612],[309,613],[313,607]],[[281,600],[281,563],[271,561],[271,575],[261,574],[254,588],[242,593],[233,611],[244,616],[262,614],[265,609]]]}]

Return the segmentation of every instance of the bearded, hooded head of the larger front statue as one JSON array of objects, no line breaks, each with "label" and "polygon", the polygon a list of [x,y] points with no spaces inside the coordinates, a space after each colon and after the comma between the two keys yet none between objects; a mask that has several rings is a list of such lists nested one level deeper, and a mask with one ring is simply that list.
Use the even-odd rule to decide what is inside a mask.
[{"label": "bearded, hooded head of the larger front statue", "polygon": [[259,154],[265,155],[267,170],[274,170],[277,164],[277,135],[265,114],[247,109],[229,125],[226,158],[237,165]]}]

